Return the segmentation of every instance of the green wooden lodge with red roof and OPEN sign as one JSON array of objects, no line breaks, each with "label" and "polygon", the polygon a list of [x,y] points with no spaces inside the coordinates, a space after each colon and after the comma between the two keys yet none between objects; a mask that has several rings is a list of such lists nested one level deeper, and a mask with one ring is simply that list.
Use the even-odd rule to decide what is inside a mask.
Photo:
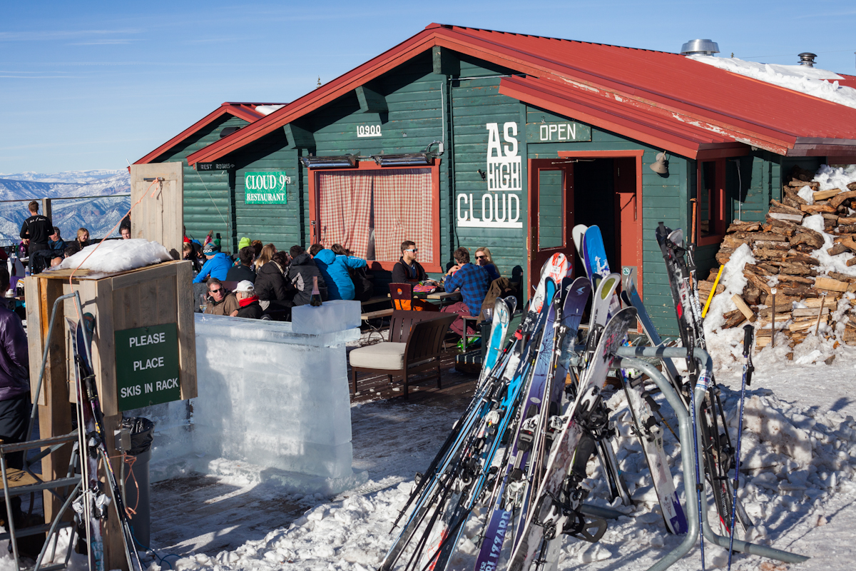
[{"label": "green wooden lodge with red roof and OPEN sign", "polygon": [[697,205],[706,275],[794,165],[856,163],[856,110],[678,54],[431,24],[290,104],[223,104],[138,163],[170,161],[187,235],[338,242],[378,288],[409,239],[433,273],[489,247],[528,291],[551,253],[578,263],[574,224],[597,224],[674,334],[657,223],[689,233]]}]

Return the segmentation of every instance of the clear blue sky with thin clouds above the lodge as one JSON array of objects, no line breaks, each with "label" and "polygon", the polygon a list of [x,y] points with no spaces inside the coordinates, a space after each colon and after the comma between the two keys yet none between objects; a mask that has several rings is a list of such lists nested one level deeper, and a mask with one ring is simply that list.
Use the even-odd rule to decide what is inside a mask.
[{"label": "clear blue sky with thin clouds above the lodge", "polygon": [[288,102],[432,21],[856,74],[853,0],[5,2],[0,173],[121,169],[223,101]]}]

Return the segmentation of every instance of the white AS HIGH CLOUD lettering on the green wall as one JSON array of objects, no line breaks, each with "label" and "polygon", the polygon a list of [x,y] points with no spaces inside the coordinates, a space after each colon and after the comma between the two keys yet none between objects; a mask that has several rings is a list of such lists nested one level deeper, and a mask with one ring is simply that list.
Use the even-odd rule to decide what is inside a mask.
[{"label": "white AS HIGH CLOUD lettering on the green wall", "polygon": [[487,123],[487,192],[455,196],[457,223],[461,228],[523,228],[520,221],[522,163],[517,146],[517,123]]}]

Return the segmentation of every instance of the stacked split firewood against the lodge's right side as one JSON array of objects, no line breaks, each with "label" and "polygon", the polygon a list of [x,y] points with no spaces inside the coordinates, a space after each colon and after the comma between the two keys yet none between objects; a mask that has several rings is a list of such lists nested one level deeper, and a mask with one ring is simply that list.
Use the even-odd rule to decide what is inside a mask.
[{"label": "stacked split firewood against the lodge's right side", "polygon": [[[827,253],[831,256],[856,253],[856,181],[847,184],[847,188],[821,191],[819,184],[811,181],[813,177],[811,171],[795,168],[792,180],[783,188],[782,201],[770,200],[765,222],[735,221],[728,227],[716,254],[716,260],[724,265],[740,245],[752,248],[755,264],[747,264],[743,270],[748,283],[742,294],[734,295],[731,306],[735,309],[723,315],[722,327],[736,327],[746,320],[754,322],[758,348],[768,345],[772,335],[773,287],[776,288],[776,346],[787,342],[792,348],[815,334],[818,319],[829,323],[842,294],[856,293],[856,268],[846,275],[823,270],[817,259],[823,235],[800,226],[803,217],[819,213],[825,232],[833,236],[834,246]],[[802,187],[811,187],[813,204],[807,204],[798,195]],[[849,259],[847,265],[856,265],[856,257]],[[711,270],[707,280],[698,282],[702,304],[713,288],[717,271],[718,268]],[[775,286],[768,285],[772,277],[778,279]],[[724,289],[719,283],[716,294]],[[794,301],[800,301],[805,308],[793,309]],[[856,300],[851,301],[851,306],[842,318],[846,321],[843,341],[856,345]]]}]

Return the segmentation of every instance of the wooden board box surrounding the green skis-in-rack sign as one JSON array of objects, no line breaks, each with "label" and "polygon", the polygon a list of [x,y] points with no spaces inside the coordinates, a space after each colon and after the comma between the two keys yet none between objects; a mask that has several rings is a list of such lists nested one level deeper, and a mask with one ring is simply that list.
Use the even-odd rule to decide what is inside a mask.
[{"label": "wooden board box surrounding the green skis-in-rack sign", "polygon": [[[179,384],[181,399],[196,396],[196,345],[193,332],[193,277],[192,265],[187,261],[165,262],[137,270],[95,277],[90,271],[79,270],[69,283],[72,271],[52,271],[26,280],[27,326],[29,336],[30,378],[35,391],[39,379],[41,356],[45,347],[51,309],[54,300],[62,294],[80,292],[84,312],[92,313],[96,320],[96,334],[92,340],[92,365],[98,382],[98,396],[105,416],[118,414],[116,395],[116,348],[114,333],[120,330],[151,327],[175,323],[179,345]],[[60,313],[60,312],[58,312]],[[53,390],[62,390],[58,384],[73,379],[69,346],[65,335],[67,329],[62,317],[78,320],[74,300],[63,301],[62,314],[57,314],[54,339],[51,342],[49,363],[45,370],[45,385]],[[59,338],[57,332],[59,330]],[[41,335],[33,335],[40,331]],[[56,354],[55,354],[56,353]],[[33,398],[35,396],[33,395]],[[47,406],[48,391],[43,390],[38,404]],[[69,398],[67,397],[66,401]]]}]

